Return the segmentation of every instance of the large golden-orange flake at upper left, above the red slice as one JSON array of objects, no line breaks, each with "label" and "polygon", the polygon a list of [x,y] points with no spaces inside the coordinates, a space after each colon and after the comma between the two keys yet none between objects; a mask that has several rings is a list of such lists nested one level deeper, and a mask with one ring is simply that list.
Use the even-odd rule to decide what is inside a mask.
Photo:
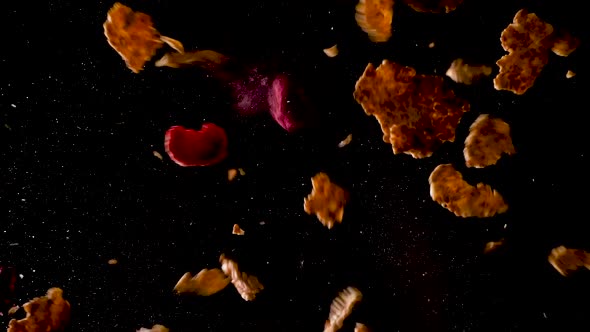
[{"label": "large golden-orange flake at upper left, above the red slice", "polygon": [[164,43],[149,15],[134,12],[119,2],[107,13],[103,27],[111,47],[136,74]]}]

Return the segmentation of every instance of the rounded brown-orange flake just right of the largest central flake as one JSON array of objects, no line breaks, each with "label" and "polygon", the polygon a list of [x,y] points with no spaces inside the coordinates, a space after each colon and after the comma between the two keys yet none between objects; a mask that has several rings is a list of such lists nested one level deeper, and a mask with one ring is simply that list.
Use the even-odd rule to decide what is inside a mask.
[{"label": "rounded brown-orange flake just right of the largest central flake", "polygon": [[494,165],[502,153],[516,153],[510,126],[501,119],[490,118],[488,114],[480,115],[469,127],[469,135],[465,139],[465,164],[475,168]]}]

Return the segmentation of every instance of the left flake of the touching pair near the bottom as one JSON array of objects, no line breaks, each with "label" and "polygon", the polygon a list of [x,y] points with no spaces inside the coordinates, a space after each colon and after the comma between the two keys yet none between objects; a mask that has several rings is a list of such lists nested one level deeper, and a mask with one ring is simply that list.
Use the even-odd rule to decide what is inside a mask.
[{"label": "left flake of the touching pair near the bottom", "polygon": [[213,295],[229,285],[228,278],[220,269],[202,269],[196,276],[185,273],[174,290],[179,293],[194,293],[200,296]]}]

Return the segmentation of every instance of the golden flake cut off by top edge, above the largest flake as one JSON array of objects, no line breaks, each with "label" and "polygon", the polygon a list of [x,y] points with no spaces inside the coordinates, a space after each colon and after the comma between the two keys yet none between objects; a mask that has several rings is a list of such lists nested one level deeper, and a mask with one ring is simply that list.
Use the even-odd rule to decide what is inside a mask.
[{"label": "golden flake cut off by top edge, above the largest flake", "polygon": [[359,0],[355,19],[372,42],[386,42],[391,37],[393,0]]}]

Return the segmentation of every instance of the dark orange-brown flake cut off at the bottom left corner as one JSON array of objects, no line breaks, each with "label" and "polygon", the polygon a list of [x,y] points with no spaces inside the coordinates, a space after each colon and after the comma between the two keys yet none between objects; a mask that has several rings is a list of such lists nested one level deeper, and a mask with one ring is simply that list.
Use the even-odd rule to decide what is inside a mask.
[{"label": "dark orange-brown flake cut off at the bottom left corner", "polygon": [[27,316],[12,319],[7,332],[56,332],[63,331],[70,321],[70,303],[62,297],[59,288],[50,288],[46,296],[25,303]]}]

